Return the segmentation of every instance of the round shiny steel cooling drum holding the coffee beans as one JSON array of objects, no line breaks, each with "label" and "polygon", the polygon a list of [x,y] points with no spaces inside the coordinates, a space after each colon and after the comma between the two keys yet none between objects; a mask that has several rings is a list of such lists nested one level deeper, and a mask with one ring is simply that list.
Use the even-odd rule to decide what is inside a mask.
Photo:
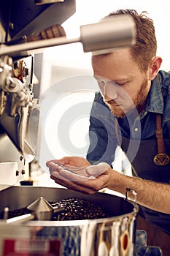
[{"label": "round shiny steel cooling drum holding the coffee beans", "polygon": [[89,200],[103,208],[109,217],[20,224],[6,224],[1,220],[1,255],[24,255],[23,252],[27,255],[133,255],[136,203],[101,192],[83,195],[69,189],[10,187],[0,192],[0,211],[7,206],[10,209],[28,206],[40,196],[50,201],[71,197]]}]

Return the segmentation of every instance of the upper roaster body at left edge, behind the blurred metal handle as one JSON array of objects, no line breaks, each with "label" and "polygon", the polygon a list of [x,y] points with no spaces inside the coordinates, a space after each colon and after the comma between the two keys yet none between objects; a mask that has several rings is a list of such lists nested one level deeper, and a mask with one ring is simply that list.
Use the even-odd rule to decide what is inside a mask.
[{"label": "upper roaster body at left edge, behind the blurred metal handle", "polygon": [[[74,12],[74,0],[0,3],[0,173],[6,173],[9,165],[12,170],[6,173],[4,187],[24,178],[25,164],[35,156],[38,129],[39,106],[33,93],[34,51],[21,51],[18,45],[65,36],[61,23]],[[5,48],[10,49],[8,54]],[[34,126],[29,125],[30,116],[35,118]]]}]

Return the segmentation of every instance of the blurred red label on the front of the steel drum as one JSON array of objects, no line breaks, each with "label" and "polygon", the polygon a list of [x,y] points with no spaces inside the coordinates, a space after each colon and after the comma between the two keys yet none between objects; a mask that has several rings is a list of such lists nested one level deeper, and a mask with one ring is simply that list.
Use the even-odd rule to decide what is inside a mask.
[{"label": "blurred red label on the front of the steel drum", "polygon": [[3,256],[60,256],[60,240],[6,239],[3,243]]}]

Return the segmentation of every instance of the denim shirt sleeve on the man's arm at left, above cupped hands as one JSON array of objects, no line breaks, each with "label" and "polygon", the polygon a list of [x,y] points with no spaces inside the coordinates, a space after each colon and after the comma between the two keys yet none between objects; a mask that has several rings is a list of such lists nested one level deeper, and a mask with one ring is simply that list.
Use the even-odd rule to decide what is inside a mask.
[{"label": "denim shirt sleeve on the man's arm at left, above cupped hands", "polygon": [[112,165],[117,148],[115,117],[105,105],[99,92],[95,95],[90,112],[89,141],[88,161],[92,165],[99,162]]}]

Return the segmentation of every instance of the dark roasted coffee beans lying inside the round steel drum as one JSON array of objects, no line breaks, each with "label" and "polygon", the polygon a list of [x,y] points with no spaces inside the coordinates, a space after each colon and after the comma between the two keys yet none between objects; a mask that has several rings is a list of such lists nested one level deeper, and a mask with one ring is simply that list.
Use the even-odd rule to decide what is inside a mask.
[{"label": "dark roasted coffee beans lying inside the round steel drum", "polygon": [[[80,220],[80,219],[100,219],[109,217],[104,213],[104,210],[96,206],[89,200],[79,198],[62,199],[58,202],[49,202],[53,207],[63,207],[60,214],[54,214],[53,220]],[[18,217],[23,214],[30,214],[28,208],[9,210],[8,219]],[[0,212],[0,219],[4,219],[4,212]]]}]

